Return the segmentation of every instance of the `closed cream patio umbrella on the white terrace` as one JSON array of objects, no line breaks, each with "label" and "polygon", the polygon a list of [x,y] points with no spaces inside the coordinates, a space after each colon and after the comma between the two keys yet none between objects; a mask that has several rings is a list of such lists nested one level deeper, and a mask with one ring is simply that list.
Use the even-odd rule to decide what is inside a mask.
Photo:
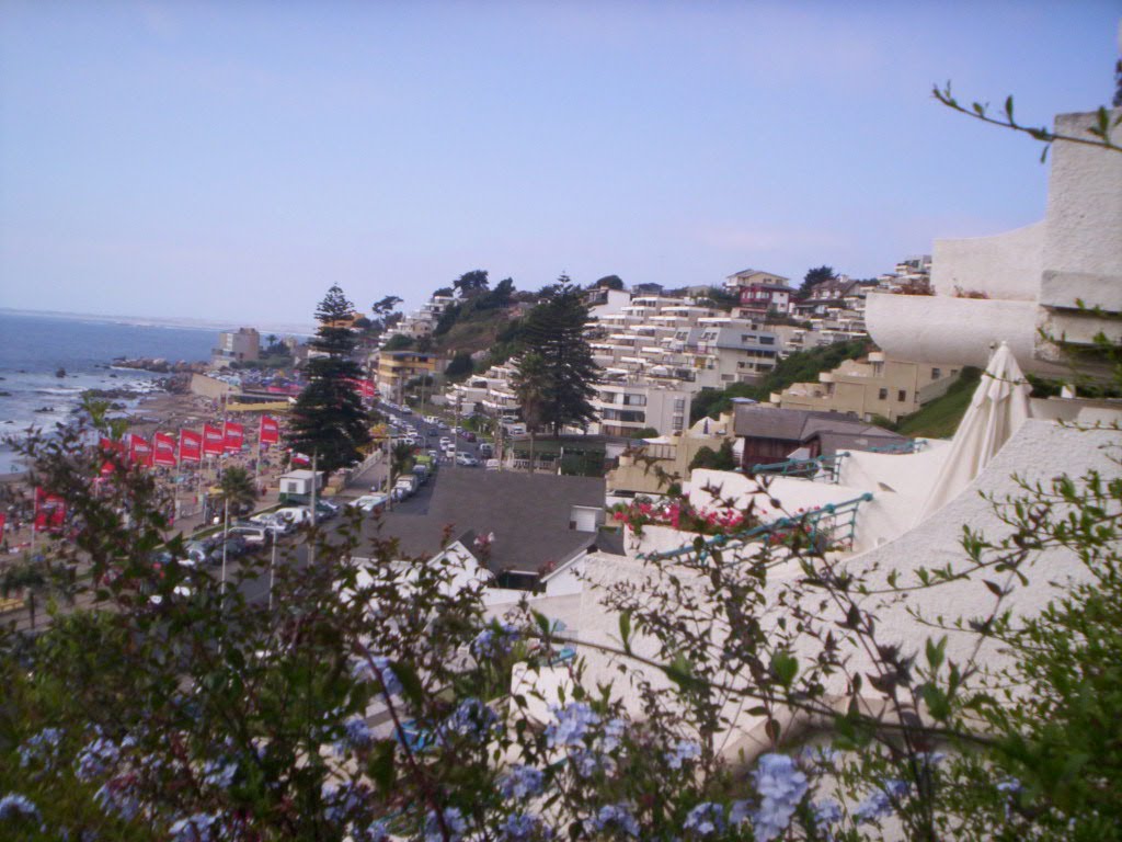
[{"label": "closed cream patio umbrella on the white terrace", "polygon": [[958,496],[1029,417],[1029,385],[1002,342],[982,373],[917,523]]}]

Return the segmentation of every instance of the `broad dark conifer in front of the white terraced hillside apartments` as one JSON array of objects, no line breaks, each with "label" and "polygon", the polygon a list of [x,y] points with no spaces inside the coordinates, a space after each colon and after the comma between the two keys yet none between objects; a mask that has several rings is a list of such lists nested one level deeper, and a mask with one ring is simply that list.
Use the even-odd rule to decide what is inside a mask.
[{"label": "broad dark conifer in front of the white terraced hillside apartments", "polygon": [[585,337],[587,320],[588,309],[579,287],[562,275],[545,301],[530,311],[523,326],[526,353],[542,359],[545,388],[541,419],[554,436],[568,424],[583,427],[596,418],[591,399],[599,368]]}]

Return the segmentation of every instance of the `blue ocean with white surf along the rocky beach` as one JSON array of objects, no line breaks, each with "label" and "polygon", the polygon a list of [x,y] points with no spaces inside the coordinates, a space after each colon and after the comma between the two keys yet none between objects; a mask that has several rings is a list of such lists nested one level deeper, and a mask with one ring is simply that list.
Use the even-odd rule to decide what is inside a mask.
[{"label": "blue ocean with white surf along the rocky beach", "polygon": [[[88,388],[127,388],[131,404],[166,375],[110,368],[114,358],[210,359],[219,330],[0,311],[0,437],[68,421]],[[0,474],[18,469],[11,447],[0,443]]]}]

